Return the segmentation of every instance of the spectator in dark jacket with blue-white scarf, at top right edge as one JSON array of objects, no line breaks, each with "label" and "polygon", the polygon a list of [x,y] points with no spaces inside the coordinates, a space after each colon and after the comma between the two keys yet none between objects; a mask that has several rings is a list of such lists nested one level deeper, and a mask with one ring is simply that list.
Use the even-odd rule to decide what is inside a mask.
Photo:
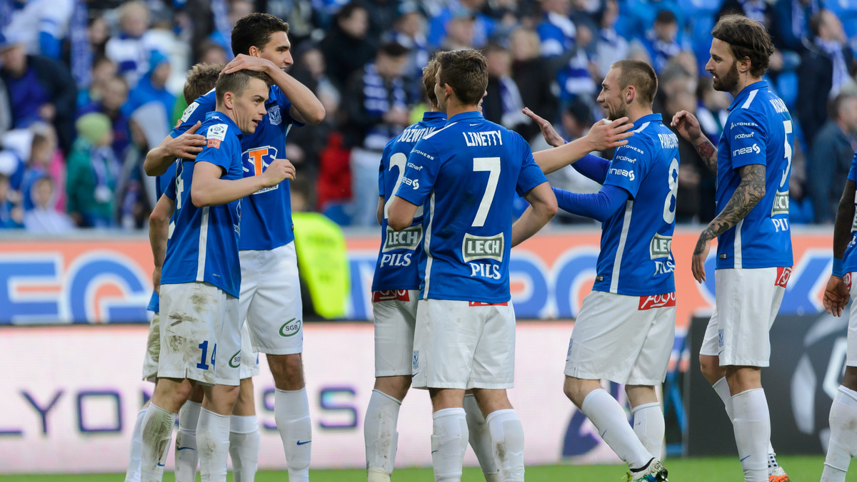
[{"label": "spectator in dark jacket with blue-white scarf, at top right edge", "polygon": [[821,9],[810,19],[812,40],[798,68],[798,118],[804,140],[812,151],[818,129],[827,120],[827,103],[842,86],[853,82],[854,53],[845,44],[842,22],[828,9]]}]

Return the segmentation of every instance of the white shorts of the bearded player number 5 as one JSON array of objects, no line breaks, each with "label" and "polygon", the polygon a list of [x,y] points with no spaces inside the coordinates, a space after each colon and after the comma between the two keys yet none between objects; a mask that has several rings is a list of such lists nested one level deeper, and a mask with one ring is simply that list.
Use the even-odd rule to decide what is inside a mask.
[{"label": "white shorts of the bearded player number 5", "polygon": [[769,366],[768,332],[791,274],[783,267],[716,270],[716,308],[699,354],[719,357],[720,366]]}]

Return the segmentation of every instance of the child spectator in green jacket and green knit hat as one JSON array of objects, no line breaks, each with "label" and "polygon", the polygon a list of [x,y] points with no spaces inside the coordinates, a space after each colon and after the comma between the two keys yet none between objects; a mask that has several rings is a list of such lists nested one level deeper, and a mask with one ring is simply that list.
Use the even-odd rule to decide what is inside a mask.
[{"label": "child spectator in green jacket and green knit hat", "polygon": [[69,214],[81,228],[109,228],[116,212],[117,159],[110,119],[93,112],[75,122],[80,137],[69,155]]}]

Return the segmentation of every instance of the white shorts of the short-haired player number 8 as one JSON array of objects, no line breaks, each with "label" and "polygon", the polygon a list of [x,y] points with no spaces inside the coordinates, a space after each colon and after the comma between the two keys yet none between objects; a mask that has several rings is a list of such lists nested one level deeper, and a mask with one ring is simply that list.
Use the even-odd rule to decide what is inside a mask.
[{"label": "white shorts of the short-haired player number 8", "polygon": [[675,293],[628,296],[593,291],[584,298],[574,322],[565,373],[617,384],[661,384],[674,338]]}]

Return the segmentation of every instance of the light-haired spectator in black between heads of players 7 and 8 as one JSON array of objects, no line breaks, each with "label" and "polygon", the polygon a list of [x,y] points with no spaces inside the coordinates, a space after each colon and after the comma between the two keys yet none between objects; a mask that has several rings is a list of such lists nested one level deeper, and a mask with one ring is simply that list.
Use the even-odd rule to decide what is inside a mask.
[{"label": "light-haired spectator in black between heads of players 7 and 8", "polygon": [[[538,34],[527,28],[516,28],[509,37],[509,50],[512,51],[512,79],[518,85],[524,106],[545,119],[556,120],[559,102],[554,94],[554,72],[542,58]],[[518,132],[525,140],[540,139],[538,124],[530,117],[525,119],[526,123]]]}]

